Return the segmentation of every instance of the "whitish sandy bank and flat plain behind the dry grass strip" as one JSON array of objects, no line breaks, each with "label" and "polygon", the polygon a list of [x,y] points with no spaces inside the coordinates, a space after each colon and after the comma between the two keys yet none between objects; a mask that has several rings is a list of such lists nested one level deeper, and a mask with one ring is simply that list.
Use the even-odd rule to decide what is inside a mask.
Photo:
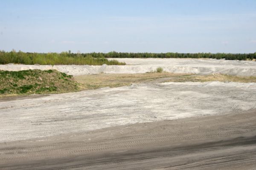
[{"label": "whitish sandy bank and flat plain behind the dry grass strip", "polygon": [[162,67],[171,73],[211,74],[222,73],[239,76],[256,76],[255,61],[217,59],[117,59],[127,65],[0,65],[0,70],[20,71],[28,69],[56,69],[70,75],[119,73],[134,74],[155,71]]}]

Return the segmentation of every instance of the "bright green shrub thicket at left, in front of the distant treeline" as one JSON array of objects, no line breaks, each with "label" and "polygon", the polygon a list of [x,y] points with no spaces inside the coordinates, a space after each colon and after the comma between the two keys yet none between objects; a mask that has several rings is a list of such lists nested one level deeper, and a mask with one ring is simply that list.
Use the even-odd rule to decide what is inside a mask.
[{"label": "bright green shrub thicket at left, in front of the distant treeline", "polygon": [[103,55],[62,53],[23,53],[22,51],[0,51],[0,64],[26,65],[125,65],[124,62],[108,60]]}]

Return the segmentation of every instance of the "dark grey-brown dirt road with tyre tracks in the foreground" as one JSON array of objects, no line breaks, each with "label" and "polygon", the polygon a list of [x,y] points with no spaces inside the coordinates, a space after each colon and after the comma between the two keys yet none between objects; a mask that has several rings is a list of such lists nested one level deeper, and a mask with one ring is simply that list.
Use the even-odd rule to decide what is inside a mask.
[{"label": "dark grey-brown dirt road with tyre tracks in the foreground", "polygon": [[256,110],[0,143],[1,170],[256,168]]}]

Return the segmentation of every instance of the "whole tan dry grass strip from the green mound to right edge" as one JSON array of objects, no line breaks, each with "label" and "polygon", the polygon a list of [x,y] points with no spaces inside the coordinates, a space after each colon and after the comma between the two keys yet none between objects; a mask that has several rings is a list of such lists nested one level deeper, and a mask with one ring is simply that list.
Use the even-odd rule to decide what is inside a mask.
[{"label": "whole tan dry grass strip from the green mound to right edge", "polygon": [[103,87],[121,87],[132,83],[146,83],[160,78],[162,82],[256,82],[256,77],[240,77],[224,74],[218,75],[195,75],[150,72],[145,74],[93,74],[74,77],[79,82],[81,90],[90,90]]}]

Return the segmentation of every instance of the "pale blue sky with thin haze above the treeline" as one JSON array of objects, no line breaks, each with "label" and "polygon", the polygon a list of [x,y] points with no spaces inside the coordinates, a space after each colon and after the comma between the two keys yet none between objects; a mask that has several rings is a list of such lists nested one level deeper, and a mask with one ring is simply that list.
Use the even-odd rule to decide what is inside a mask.
[{"label": "pale blue sky with thin haze above the treeline", "polygon": [[256,52],[256,0],[0,0],[0,50]]}]

